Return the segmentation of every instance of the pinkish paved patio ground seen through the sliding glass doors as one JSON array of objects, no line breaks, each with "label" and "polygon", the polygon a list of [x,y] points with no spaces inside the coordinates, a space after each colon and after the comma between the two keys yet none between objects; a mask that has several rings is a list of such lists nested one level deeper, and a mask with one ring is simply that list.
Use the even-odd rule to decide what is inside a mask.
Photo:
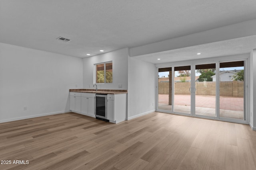
[{"label": "pinkish paved patio ground seen through the sliding glass doors", "polygon": [[[168,94],[158,94],[158,108],[171,110]],[[196,95],[196,115],[215,117],[215,96]],[[174,111],[190,113],[190,95],[175,94]],[[220,96],[220,117],[244,119],[244,98]]]}]

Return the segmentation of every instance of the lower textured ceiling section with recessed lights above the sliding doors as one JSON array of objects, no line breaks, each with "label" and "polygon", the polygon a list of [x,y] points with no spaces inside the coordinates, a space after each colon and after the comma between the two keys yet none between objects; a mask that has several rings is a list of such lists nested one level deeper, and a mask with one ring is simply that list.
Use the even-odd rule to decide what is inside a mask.
[{"label": "lower textured ceiling section with recessed lights above the sliding doors", "polygon": [[[133,58],[159,64],[250,53],[256,49],[256,35],[140,55]],[[201,53],[197,55],[197,53]],[[157,60],[160,59],[160,60]]]}]

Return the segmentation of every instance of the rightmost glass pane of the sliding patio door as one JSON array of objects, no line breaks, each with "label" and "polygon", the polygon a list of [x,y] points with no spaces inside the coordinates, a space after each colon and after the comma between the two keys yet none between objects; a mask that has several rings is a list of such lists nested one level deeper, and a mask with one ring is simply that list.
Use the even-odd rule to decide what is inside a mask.
[{"label": "rightmost glass pane of the sliding patio door", "polygon": [[245,120],[244,61],[220,63],[220,117]]}]

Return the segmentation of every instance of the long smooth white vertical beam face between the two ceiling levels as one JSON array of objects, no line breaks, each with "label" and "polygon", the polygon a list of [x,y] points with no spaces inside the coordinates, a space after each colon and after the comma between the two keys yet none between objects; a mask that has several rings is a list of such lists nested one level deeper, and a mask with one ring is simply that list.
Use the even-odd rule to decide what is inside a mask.
[{"label": "long smooth white vertical beam face between the two ceiling levels", "polygon": [[130,48],[130,57],[256,35],[256,20],[244,21],[182,37]]}]

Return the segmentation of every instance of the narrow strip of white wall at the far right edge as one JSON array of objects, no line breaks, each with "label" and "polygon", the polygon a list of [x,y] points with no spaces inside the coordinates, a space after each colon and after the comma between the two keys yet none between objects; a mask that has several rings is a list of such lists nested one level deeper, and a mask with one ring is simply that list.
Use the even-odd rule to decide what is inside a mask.
[{"label": "narrow strip of white wall at the far right edge", "polygon": [[250,53],[250,126],[256,130],[256,49]]}]

